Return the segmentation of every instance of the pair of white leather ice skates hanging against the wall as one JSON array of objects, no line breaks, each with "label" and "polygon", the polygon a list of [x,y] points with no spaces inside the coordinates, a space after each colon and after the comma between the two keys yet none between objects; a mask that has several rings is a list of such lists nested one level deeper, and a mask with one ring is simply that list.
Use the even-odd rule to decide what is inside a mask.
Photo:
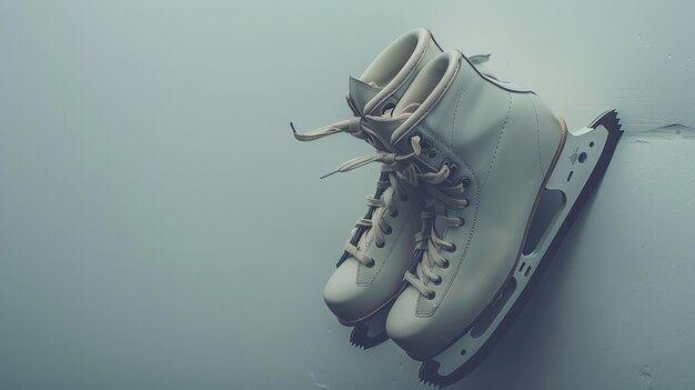
[{"label": "pair of white leather ice skates hanging against the wall", "polygon": [[622,133],[615,111],[570,133],[536,94],[481,62],[413,30],[350,78],[354,118],[294,131],[302,141],[344,132],[376,149],[338,169],[381,163],[324,300],[354,327],[354,344],[390,337],[439,386],[482,360]]}]

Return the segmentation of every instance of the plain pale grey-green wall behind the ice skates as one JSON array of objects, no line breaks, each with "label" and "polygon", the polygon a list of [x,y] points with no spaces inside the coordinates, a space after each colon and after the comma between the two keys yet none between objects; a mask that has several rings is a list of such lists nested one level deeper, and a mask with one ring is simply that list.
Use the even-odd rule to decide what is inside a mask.
[{"label": "plain pale grey-green wall behind the ice skates", "polygon": [[628,134],[467,389],[695,387],[693,2],[0,2],[0,388],[420,389],[323,283],[376,167],[346,76],[430,28]]}]

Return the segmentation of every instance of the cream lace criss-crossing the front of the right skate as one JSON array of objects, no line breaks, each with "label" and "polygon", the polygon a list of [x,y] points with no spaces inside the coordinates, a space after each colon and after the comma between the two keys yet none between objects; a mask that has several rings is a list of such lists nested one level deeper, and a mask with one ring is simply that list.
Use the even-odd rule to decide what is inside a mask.
[{"label": "cream lace criss-crossing the front of the right skate", "polygon": [[427,282],[439,286],[442,277],[434,272],[434,267],[449,268],[449,260],[440,253],[442,250],[454,252],[456,246],[443,239],[443,232],[436,231],[436,226],[443,223],[447,228],[457,228],[465,223],[462,218],[447,217],[440,213],[435,204],[442,204],[450,209],[463,209],[469,206],[469,200],[463,198],[465,180],[455,186],[445,182],[450,174],[449,166],[431,176],[427,180],[426,192],[429,194],[426,209],[421,213],[422,229],[415,236],[415,258],[420,257],[415,273],[405,272],[405,281],[413,286],[422,296],[434,299],[434,290],[427,287]]}]

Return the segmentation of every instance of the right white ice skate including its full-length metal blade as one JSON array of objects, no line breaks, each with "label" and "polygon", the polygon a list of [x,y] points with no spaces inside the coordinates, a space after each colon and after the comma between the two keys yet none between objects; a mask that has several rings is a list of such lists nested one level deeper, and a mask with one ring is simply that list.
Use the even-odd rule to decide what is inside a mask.
[{"label": "right white ice skate including its full-length metal blade", "polygon": [[406,273],[386,331],[424,361],[423,381],[445,386],[556,244],[605,170],[620,126],[611,112],[568,133],[536,94],[481,74],[457,51],[421,70],[393,118],[365,121],[411,156],[402,163],[416,167],[427,194],[416,271]]}]

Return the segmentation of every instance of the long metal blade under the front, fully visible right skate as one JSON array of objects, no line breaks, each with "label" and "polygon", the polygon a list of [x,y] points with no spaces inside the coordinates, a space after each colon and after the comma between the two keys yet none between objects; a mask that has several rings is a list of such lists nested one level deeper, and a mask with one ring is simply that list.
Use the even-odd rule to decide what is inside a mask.
[{"label": "long metal blade under the front, fully visible right skate", "polygon": [[[450,386],[475,370],[492,351],[538,278],[533,279],[534,283],[530,281],[547,266],[543,260],[552,258],[582,203],[605,172],[621,134],[614,110],[603,113],[590,127],[567,133],[526,238],[533,244],[524,246],[512,278],[464,334],[439,354],[423,360],[422,382],[440,388]],[[541,204],[544,199],[553,204]],[[538,229],[534,227],[536,221],[545,226]]]}]

